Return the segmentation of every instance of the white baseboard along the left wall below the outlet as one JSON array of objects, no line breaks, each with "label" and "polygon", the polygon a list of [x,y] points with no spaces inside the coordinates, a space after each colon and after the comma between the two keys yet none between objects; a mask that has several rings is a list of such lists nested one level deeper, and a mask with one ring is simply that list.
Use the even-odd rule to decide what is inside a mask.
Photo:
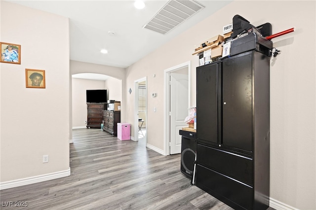
[{"label": "white baseboard along the left wall below the outlet", "polygon": [[9,189],[13,187],[24,186],[28,184],[34,184],[42,181],[47,181],[55,178],[61,178],[70,175],[70,168],[65,171],[54,172],[45,175],[32,176],[28,178],[21,178],[12,181],[0,182],[0,190]]}]

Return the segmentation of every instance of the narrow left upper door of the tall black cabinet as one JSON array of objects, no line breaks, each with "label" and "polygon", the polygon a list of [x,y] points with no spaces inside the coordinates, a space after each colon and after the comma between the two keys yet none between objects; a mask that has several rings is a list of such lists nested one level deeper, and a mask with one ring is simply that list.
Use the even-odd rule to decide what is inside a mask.
[{"label": "narrow left upper door of the tall black cabinet", "polygon": [[219,143],[218,72],[219,64],[197,68],[197,138]]}]

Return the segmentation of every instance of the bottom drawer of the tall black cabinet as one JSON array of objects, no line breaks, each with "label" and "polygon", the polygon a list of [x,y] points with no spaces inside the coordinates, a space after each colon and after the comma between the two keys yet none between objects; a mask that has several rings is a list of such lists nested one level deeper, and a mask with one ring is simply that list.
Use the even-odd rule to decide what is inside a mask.
[{"label": "bottom drawer of the tall black cabinet", "polygon": [[196,178],[197,187],[221,201],[228,200],[234,209],[252,209],[252,187],[199,164],[197,164]]}]

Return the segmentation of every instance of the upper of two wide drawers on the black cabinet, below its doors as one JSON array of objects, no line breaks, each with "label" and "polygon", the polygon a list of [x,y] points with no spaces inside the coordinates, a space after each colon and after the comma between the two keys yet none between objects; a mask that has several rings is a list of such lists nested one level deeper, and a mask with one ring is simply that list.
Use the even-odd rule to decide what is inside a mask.
[{"label": "upper of two wide drawers on the black cabinet, below its doors", "polygon": [[252,186],[252,159],[197,144],[197,163]]}]

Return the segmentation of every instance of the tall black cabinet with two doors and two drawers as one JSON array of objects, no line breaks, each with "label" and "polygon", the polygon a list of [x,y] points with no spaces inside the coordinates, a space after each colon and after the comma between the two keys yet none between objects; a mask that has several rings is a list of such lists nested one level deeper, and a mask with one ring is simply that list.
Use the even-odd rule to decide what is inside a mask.
[{"label": "tall black cabinet with two doors and two drawers", "polygon": [[197,67],[196,185],[234,209],[269,207],[270,57]]}]

